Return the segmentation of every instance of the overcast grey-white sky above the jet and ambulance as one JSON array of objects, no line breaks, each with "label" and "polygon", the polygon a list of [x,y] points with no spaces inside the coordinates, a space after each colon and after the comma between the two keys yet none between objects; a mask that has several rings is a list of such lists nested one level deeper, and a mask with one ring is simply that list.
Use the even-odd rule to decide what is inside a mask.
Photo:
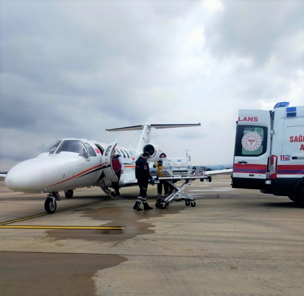
[{"label": "overcast grey-white sky above the jet and ambulance", "polygon": [[[62,138],[233,162],[238,109],[304,102],[303,1],[1,0],[0,170]],[[128,144],[136,147],[140,133]]]}]

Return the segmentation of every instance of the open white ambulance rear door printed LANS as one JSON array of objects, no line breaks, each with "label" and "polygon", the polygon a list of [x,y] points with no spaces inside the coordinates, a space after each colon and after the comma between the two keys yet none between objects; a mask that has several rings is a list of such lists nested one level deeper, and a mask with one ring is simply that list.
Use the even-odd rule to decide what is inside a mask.
[{"label": "open white ambulance rear door printed LANS", "polygon": [[233,188],[265,187],[270,156],[270,112],[239,110],[233,161]]}]

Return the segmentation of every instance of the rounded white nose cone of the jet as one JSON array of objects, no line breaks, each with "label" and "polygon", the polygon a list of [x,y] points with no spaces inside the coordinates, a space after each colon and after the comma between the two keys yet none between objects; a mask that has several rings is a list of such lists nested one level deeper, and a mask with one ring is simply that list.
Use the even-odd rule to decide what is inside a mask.
[{"label": "rounded white nose cone of the jet", "polygon": [[14,166],[5,177],[5,186],[13,191],[39,193],[45,186],[46,175],[42,167],[22,162]]}]

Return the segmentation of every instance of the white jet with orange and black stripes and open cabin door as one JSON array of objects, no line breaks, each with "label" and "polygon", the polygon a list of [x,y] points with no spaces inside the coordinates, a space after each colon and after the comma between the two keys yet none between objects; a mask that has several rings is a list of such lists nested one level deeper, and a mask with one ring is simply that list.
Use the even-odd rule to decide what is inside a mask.
[{"label": "white jet with orange and black stripes and open cabin door", "polygon": [[200,126],[197,124],[144,124],[118,129],[106,129],[109,132],[143,130],[136,149],[117,146],[117,140],[105,144],[87,139],[61,139],[45,148],[36,158],[16,164],[5,177],[5,185],[12,191],[24,193],[46,193],[44,208],[54,213],[60,200],[59,191],[66,198],[73,196],[75,188],[100,186],[112,197],[112,181],[117,176],[112,170],[111,157],[114,152],[124,161],[124,173],[119,187],[137,185],[135,162],[143,152],[150,153],[150,161],[157,161],[162,152],[157,145],[150,143],[151,129]]}]

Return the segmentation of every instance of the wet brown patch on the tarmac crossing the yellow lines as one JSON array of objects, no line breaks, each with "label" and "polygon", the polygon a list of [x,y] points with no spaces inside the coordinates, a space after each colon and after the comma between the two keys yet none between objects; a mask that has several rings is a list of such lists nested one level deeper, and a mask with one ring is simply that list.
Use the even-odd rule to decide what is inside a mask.
[{"label": "wet brown patch on the tarmac crossing the yellow lines", "polygon": [[[94,242],[112,242],[113,246],[121,244],[126,239],[137,235],[155,233],[155,225],[144,220],[147,218],[161,217],[162,215],[177,214],[185,208],[183,202],[173,203],[166,209],[155,208],[155,204],[150,203],[153,210],[135,211],[130,202],[122,201],[123,204],[117,206],[102,206],[100,208],[86,208],[74,210],[81,212],[81,217],[88,217],[96,222],[96,226],[125,226],[123,230],[76,230],[76,229],[56,229],[46,231],[49,238],[54,240],[82,239]],[[177,204],[180,204],[179,206]],[[140,221],[143,220],[143,221]],[[111,221],[100,224],[100,221]]]}]

